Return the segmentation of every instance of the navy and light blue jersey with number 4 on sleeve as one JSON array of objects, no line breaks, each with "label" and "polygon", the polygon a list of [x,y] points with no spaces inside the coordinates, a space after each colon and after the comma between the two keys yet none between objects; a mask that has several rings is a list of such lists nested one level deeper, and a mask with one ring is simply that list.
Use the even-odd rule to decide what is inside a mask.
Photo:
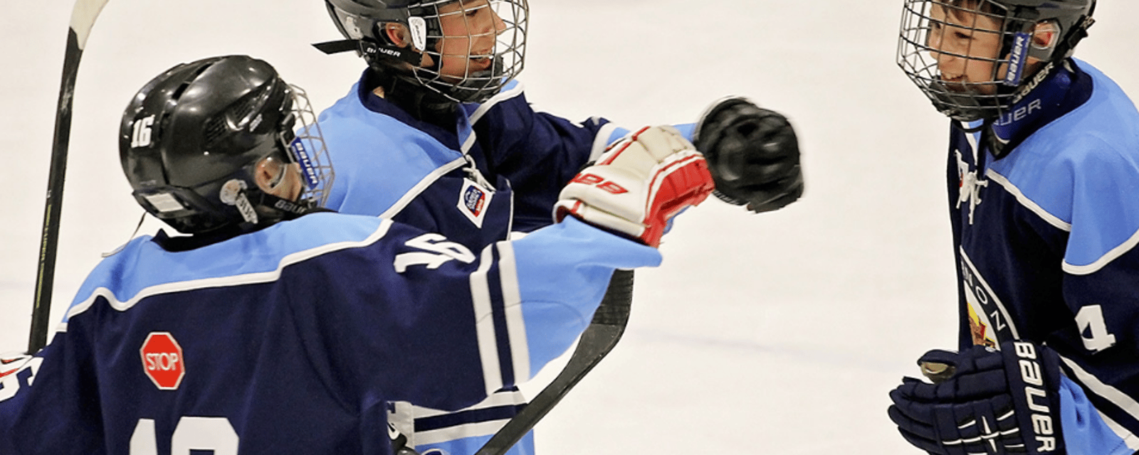
[{"label": "navy and light blue jersey with number 4 on sleeve", "polygon": [[[997,119],[952,125],[961,348],[1044,342],[1139,449],[1139,113],[1068,60]],[[1007,155],[992,154],[999,143]]]}]

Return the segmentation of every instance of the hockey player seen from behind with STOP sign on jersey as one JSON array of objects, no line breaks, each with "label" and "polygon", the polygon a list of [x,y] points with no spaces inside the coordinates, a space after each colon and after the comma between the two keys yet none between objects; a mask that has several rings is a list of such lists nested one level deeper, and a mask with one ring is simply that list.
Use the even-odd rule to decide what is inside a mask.
[{"label": "hockey player seen from behind with STOP sign on jersey", "polygon": [[405,439],[388,402],[454,410],[525,381],[613,270],[658,264],[667,217],[712,191],[688,141],[645,129],[583,169],[626,191],[579,179],[564,221],[472,251],[320,209],[333,173],[306,107],[244,56],[175,66],[132,99],[133,196],[189,235],[129,242],[46,348],[3,359],[0,454],[391,454]]}]

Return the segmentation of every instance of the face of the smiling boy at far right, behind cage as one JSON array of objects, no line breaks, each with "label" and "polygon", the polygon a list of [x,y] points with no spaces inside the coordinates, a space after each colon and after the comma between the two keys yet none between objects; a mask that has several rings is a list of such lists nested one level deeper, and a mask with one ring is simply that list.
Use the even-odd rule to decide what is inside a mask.
[{"label": "face of the smiling boy at far right, behind cage", "polygon": [[940,2],[929,10],[928,46],[939,76],[949,90],[997,93],[995,60],[1001,47],[1001,22],[975,13],[972,2],[956,9]]}]

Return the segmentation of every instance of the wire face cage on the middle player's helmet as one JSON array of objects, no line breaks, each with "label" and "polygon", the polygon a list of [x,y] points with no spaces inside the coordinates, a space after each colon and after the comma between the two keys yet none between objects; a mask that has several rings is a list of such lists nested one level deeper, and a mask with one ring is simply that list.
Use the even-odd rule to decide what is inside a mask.
[{"label": "wire face cage on the middle player's helmet", "polygon": [[526,0],[440,0],[421,3],[424,65],[416,76],[459,102],[481,102],[514,80],[525,64]]}]

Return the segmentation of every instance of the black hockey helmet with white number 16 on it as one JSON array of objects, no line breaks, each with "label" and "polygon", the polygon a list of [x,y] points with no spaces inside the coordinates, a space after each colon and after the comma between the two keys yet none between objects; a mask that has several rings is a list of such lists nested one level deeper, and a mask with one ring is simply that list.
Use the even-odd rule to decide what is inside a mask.
[{"label": "black hockey helmet with white number 16 on it", "polygon": [[[118,150],[134,199],[183,233],[303,214],[323,204],[334,177],[308,97],[247,56],[181,64],[153,78],[123,113]],[[265,157],[300,166],[297,200],[260,190],[254,167]]]}]

